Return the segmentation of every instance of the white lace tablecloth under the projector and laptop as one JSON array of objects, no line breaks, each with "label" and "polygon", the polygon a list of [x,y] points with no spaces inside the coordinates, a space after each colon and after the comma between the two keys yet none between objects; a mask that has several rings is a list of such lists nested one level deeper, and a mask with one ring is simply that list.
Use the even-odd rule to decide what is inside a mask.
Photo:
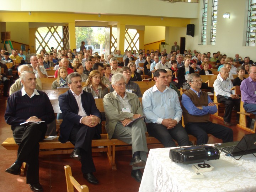
[{"label": "white lace tablecloth under the projector and laptop", "polygon": [[206,161],[214,166],[213,171],[203,172],[204,178],[191,179],[191,174],[195,173],[192,165],[172,162],[170,149],[150,149],[139,192],[256,192],[256,158],[253,154],[235,160],[222,152],[220,159]]}]

